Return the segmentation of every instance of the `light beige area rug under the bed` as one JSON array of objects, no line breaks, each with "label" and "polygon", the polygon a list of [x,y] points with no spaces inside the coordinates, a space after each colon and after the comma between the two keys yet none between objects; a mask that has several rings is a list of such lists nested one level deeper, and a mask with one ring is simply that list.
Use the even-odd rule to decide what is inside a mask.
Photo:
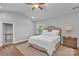
[{"label": "light beige area rug under the bed", "polygon": [[[28,43],[15,46],[24,56],[48,56],[47,53],[30,47]],[[60,46],[54,56],[74,56],[74,49]]]}]

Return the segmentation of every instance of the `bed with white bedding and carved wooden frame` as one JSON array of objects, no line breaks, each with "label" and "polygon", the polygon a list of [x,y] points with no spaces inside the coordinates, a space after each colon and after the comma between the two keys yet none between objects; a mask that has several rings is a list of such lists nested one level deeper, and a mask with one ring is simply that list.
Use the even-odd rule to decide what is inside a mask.
[{"label": "bed with white bedding and carved wooden frame", "polygon": [[33,46],[41,51],[53,55],[58,46],[61,44],[61,29],[54,26],[48,26],[41,35],[31,36],[29,46]]}]

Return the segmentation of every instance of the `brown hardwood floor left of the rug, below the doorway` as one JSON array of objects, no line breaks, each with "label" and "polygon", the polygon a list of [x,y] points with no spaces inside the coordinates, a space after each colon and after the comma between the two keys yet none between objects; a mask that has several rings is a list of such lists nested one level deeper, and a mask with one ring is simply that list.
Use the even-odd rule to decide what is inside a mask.
[{"label": "brown hardwood floor left of the rug, below the doorway", "polygon": [[23,56],[20,51],[12,45],[0,48],[0,56]]}]

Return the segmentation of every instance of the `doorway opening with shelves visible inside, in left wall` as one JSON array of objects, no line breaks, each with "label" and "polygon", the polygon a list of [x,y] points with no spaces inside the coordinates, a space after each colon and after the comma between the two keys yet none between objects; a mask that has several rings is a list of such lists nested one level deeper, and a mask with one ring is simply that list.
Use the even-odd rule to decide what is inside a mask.
[{"label": "doorway opening with shelves visible inside, in left wall", "polygon": [[3,23],[3,45],[13,44],[13,24]]}]

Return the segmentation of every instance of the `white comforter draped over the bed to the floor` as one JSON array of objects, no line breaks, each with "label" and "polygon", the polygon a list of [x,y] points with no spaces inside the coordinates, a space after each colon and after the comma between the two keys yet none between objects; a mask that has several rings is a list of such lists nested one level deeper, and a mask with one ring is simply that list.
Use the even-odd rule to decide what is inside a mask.
[{"label": "white comforter draped over the bed to the floor", "polygon": [[34,43],[47,50],[49,55],[56,50],[55,46],[60,41],[59,36],[47,36],[47,35],[38,35],[32,36],[29,39],[29,43]]}]

